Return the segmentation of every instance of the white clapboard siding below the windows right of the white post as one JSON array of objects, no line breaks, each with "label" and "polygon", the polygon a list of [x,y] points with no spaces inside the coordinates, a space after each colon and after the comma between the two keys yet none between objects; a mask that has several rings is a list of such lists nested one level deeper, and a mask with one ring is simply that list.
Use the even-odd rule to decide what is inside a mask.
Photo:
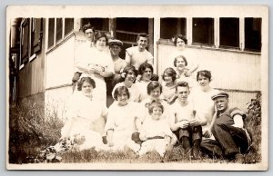
[{"label": "white clapboard siding below the windows right of the white post", "polygon": [[[175,52],[173,45],[158,44],[157,73],[161,74],[165,68],[173,67]],[[231,52],[201,47],[187,47],[190,58],[188,62],[199,64],[198,70],[209,70],[212,73],[212,86],[221,89],[241,91],[259,91],[260,87],[260,54]]]}]

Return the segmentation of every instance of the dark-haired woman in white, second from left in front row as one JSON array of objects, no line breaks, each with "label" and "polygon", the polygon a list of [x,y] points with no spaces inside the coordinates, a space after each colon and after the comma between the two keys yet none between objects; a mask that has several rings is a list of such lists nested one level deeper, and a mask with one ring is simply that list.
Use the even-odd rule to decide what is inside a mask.
[{"label": "dark-haired woman in white, second from left in front row", "polygon": [[138,104],[128,101],[130,93],[126,86],[116,87],[113,97],[116,101],[109,107],[105,127],[107,145],[114,151],[124,151],[128,147],[137,152],[140,146],[131,140],[131,135],[136,130]]}]

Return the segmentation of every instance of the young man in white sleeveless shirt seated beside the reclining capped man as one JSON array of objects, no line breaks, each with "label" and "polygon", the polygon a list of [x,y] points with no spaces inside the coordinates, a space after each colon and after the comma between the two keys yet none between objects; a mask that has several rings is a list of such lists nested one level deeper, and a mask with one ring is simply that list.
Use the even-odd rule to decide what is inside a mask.
[{"label": "young man in white sleeveless shirt seated beside the reclining capped man", "polygon": [[187,100],[189,94],[188,83],[177,83],[176,94],[177,101],[170,107],[170,127],[176,133],[177,140],[185,152],[192,151],[193,159],[197,159],[200,153],[202,127],[201,121],[196,116],[193,103]]}]

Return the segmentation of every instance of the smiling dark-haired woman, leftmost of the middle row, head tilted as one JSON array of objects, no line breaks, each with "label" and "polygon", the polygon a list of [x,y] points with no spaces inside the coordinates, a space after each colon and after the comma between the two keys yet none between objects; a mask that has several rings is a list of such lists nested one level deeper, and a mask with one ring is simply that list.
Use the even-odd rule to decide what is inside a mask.
[{"label": "smiling dark-haired woman, leftmost of the middle row, head tilted", "polygon": [[126,88],[128,89],[130,93],[130,97],[128,101],[138,103],[140,101],[140,92],[138,90],[138,87],[136,86],[136,83],[134,83],[136,81],[136,75],[137,75],[137,70],[135,66],[126,66],[123,72],[121,73],[122,82],[116,83],[113,89],[113,92],[112,92],[113,97],[114,97],[116,87],[126,86]]}]

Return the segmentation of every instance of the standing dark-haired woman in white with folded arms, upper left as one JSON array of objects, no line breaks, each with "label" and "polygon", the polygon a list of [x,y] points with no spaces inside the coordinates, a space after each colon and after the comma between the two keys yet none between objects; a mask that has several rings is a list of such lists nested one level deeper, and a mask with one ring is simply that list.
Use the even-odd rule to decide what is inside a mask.
[{"label": "standing dark-haired woman in white with folded arms, upper left", "polygon": [[104,33],[96,33],[95,46],[86,51],[86,56],[76,60],[77,69],[83,73],[81,76],[90,76],[96,82],[94,99],[106,103],[105,78],[114,74],[114,64],[109,53],[107,37]]}]

